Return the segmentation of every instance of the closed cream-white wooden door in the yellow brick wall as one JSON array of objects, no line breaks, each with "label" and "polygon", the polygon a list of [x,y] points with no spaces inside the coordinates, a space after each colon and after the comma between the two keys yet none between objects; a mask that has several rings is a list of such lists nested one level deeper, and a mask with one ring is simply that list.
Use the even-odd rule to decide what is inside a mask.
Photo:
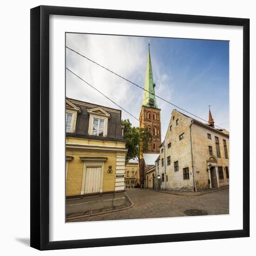
[{"label": "closed cream-white wooden door in the yellow brick wall", "polygon": [[97,193],[101,189],[101,167],[87,167],[84,193]]}]

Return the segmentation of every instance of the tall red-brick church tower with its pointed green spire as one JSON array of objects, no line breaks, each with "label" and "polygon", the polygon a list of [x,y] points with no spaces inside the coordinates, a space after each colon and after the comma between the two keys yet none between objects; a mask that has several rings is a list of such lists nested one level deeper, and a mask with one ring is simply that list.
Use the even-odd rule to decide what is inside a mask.
[{"label": "tall red-brick church tower with its pointed green spire", "polygon": [[161,145],[161,109],[158,108],[155,100],[155,83],[150,58],[150,48],[148,44],[148,61],[146,68],[145,86],[140,113],[140,127],[148,127],[153,135],[153,141],[149,145],[149,154],[159,154]]}]

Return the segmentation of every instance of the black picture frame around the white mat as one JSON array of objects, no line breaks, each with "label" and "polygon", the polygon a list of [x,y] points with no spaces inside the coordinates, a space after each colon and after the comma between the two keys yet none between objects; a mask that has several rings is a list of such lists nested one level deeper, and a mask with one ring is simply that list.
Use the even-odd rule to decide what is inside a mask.
[{"label": "black picture frame around the white mat", "polygon": [[[243,27],[243,229],[49,242],[49,15]],[[31,247],[40,250],[249,236],[249,19],[39,6],[31,9]]]}]

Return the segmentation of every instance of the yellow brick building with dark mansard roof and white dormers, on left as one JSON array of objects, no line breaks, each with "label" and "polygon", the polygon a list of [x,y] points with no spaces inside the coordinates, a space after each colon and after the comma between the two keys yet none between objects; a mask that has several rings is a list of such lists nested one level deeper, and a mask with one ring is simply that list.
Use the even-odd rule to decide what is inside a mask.
[{"label": "yellow brick building with dark mansard roof and white dormers, on left", "polygon": [[66,99],[66,213],[125,205],[121,111]]}]

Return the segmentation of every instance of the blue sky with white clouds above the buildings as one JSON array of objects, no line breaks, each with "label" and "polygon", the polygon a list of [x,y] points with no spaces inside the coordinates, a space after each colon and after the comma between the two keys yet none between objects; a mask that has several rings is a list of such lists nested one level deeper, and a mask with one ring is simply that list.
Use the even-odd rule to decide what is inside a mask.
[{"label": "blue sky with white clouds above the buildings", "polygon": [[[155,94],[207,121],[210,105],[215,124],[229,130],[229,41],[66,34],[67,47],[143,88],[148,42]],[[143,97],[141,88],[69,49],[66,49],[66,67],[139,118]],[[120,109],[68,70],[66,95]],[[175,107],[159,98],[156,101],[161,108],[161,133],[165,135]],[[179,108],[175,109],[189,115]],[[122,119],[129,119],[133,126],[139,126],[139,121],[125,111],[122,110],[121,115]]]}]

